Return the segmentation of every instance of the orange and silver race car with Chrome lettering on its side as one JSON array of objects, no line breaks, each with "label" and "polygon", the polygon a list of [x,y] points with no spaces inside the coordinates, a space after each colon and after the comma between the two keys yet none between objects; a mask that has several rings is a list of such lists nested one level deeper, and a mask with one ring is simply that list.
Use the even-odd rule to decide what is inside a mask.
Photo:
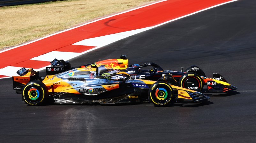
[{"label": "orange and silver race car with Chrome lettering on its side", "polygon": [[[170,85],[165,78],[156,82],[133,79],[125,72],[102,75],[98,72],[97,67],[84,67],[41,78],[32,68],[22,68],[17,71],[20,76],[12,77],[13,89],[21,93],[23,101],[29,105],[40,105],[52,99],[60,104],[152,102],[164,106],[177,98],[194,102],[209,99],[200,92]],[[113,78],[116,76],[124,78]]]}]

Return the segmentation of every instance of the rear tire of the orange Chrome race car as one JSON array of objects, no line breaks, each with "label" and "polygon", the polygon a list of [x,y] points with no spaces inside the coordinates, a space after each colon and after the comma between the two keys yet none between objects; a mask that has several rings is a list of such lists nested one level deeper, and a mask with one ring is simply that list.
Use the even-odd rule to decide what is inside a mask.
[{"label": "rear tire of the orange Chrome race car", "polygon": [[49,96],[46,85],[40,81],[28,82],[21,94],[28,105],[42,105]]}]

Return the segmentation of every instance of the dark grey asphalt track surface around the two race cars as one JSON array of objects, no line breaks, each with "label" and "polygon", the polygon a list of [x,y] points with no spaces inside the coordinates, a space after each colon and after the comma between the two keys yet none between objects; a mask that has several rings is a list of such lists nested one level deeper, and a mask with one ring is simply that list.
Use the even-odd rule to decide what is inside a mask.
[{"label": "dark grey asphalt track surface around the two race cars", "polygon": [[[238,89],[204,103],[27,106],[1,79],[0,142],[252,142],[256,140],[256,1],[241,0],[122,39],[70,60],[118,58],[164,69],[197,65]],[[45,75],[45,72],[41,72]]]}]

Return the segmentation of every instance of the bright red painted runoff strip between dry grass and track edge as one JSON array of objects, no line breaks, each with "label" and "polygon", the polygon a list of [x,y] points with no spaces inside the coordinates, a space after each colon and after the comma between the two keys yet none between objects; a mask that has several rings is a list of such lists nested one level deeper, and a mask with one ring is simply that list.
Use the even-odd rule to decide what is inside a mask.
[{"label": "bright red painted runoff strip between dry grass and track edge", "polygon": [[[26,64],[29,66],[37,65],[40,62],[30,59],[51,51],[81,53],[89,48],[93,48],[93,46],[76,46],[72,45],[73,43],[88,38],[158,25],[229,1],[230,0],[169,0],[152,4],[0,53],[0,68],[7,66],[22,67],[26,66]],[[52,59],[54,59],[54,57],[52,57]],[[41,64],[47,65],[46,62],[41,62]]]}]

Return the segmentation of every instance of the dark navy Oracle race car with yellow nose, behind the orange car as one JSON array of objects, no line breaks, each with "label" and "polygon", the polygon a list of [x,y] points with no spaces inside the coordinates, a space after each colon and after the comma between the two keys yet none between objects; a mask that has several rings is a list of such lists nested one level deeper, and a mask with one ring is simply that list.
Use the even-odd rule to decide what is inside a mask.
[{"label": "dark navy Oracle race car with yellow nose, behind the orange car", "polygon": [[[54,60],[58,62],[58,60]],[[52,62],[54,62],[52,61]],[[66,63],[69,64],[68,62]],[[57,68],[52,65],[51,68]],[[144,79],[157,81],[162,79],[164,76],[169,76],[168,82],[172,85],[180,86],[186,89],[192,89],[199,92],[211,92],[211,93],[223,93],[229,90],[236,90],[237,88],[229,84],[226,79],[220,74],[213,74],[213,78],[206,77],[202,69],[197,66],[191,66],[185,70],[173,71],[173,70],[163,70],[159,65],[155,63],[144,63],[144,64],[133,64],[128,66],[128,59],[125,55],[121,56],[121,59],[108,59],[103,61],[98,61],[88,65],[80,66],[87,68],[98,68],[99,74],[104,73],[115,73],[115,72],[126,72],[134,79]],[[51,73],[49,73],[51,75]],[[113,76],[113,79],[124,78],[122,76]],[[191,86],[193,83],[194,86]],[[203,90],[204,86],[207,89]]]}]

